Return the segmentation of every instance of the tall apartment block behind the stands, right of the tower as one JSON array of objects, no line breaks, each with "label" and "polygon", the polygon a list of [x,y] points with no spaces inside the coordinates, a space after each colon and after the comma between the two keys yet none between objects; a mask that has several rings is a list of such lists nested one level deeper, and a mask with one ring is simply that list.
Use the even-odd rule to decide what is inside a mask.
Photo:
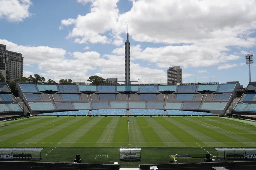
[{"label": "tall apartment block behind the stands, right of the tower", "polygon": [[169,85],[182,83],[182,68],[180,66],[169,67],[167,70],[167,83]]}]

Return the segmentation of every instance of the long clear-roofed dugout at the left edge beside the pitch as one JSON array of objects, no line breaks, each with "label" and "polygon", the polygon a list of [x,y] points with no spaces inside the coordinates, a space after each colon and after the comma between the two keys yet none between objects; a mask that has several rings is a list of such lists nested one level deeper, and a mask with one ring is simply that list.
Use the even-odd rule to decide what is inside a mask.
[{"label": "long clear-roofed dugout at the left edge beside the pitch", "polygon": [[0,148],[0,160],[40,160],[42,147]]}]

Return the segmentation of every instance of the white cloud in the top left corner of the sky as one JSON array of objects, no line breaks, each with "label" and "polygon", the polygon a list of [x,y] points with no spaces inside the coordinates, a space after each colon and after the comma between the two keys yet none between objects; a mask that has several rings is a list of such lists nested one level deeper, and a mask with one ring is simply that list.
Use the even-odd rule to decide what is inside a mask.
[{"label": "white cloud in the top left corner of the sky", "polygon": [[0,0],[0,18],[11,22],[21,22],[32,14],[28,11],[30,0]]}]

